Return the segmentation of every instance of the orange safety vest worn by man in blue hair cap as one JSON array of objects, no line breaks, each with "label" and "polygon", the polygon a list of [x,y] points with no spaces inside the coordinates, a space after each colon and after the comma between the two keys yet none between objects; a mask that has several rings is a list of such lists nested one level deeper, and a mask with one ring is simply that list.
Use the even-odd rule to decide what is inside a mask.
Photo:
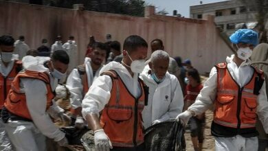
[{"label": "orange safety vest worn by man in blue hair cap", "polygon": [[214,101],[214,123],[230,128],[254,128],[257,97],[254,84],[263,72],[254,70],[252,79],[242,88],[232,78],[226,63],[216,65],[217,93]]}]

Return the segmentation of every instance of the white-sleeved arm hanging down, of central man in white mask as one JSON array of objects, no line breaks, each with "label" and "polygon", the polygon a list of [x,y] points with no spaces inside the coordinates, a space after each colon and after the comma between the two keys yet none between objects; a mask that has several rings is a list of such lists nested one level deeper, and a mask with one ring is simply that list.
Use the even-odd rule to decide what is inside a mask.
[{"label": "white-sleeved arm hanging down, of central man in white mask", "polygon": [[101,129],[99,113],[110,100],[112,84],[108,75],[99,76],[82,100],[82,115],[93,131]]}]

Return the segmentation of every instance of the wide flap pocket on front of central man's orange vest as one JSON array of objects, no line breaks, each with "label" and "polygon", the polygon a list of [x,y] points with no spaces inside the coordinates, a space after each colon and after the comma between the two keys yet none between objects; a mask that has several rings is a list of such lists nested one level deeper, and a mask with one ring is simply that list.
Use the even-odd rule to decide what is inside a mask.
[{"label": "wide flap pocket on front of central man's orange vest", "polygon": [[128,121],[132,117],[132,111],[128,109],[108,109],[107,115],[113,121]]}]

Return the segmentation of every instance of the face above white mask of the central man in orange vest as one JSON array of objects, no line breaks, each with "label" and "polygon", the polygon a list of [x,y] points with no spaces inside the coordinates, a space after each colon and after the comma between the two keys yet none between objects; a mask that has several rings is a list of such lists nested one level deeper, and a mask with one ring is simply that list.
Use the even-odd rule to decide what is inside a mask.
[{"label": "face above white mask of the central man in orange vest", "polygon": [[[123,51],[124,63],[131,66],[132,60],[145,60],[147,57],[147,47],[137,47],[136,50],[129,52],[129,56],[126,50]],[[131,60],[132,59],[132,60]]]}]

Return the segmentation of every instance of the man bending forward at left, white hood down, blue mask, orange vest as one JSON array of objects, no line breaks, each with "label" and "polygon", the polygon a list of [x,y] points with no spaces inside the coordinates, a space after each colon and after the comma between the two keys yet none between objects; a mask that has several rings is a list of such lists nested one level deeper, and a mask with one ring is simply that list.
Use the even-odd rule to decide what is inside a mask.
[{"label": "man bending forward at left, white hood down, blue mask, orange vest", "polygon": [[49,137],[59,146],[67,146],[65,133],[49,117],[71,120],[53,101],[53,91],[68,67],[67,53],[54,51],[44,65],[38,65],[33,56],[22,61],[25,70],[14,78],[1,113],[12,145],[15,150],[46,150],[45,137]]}]

